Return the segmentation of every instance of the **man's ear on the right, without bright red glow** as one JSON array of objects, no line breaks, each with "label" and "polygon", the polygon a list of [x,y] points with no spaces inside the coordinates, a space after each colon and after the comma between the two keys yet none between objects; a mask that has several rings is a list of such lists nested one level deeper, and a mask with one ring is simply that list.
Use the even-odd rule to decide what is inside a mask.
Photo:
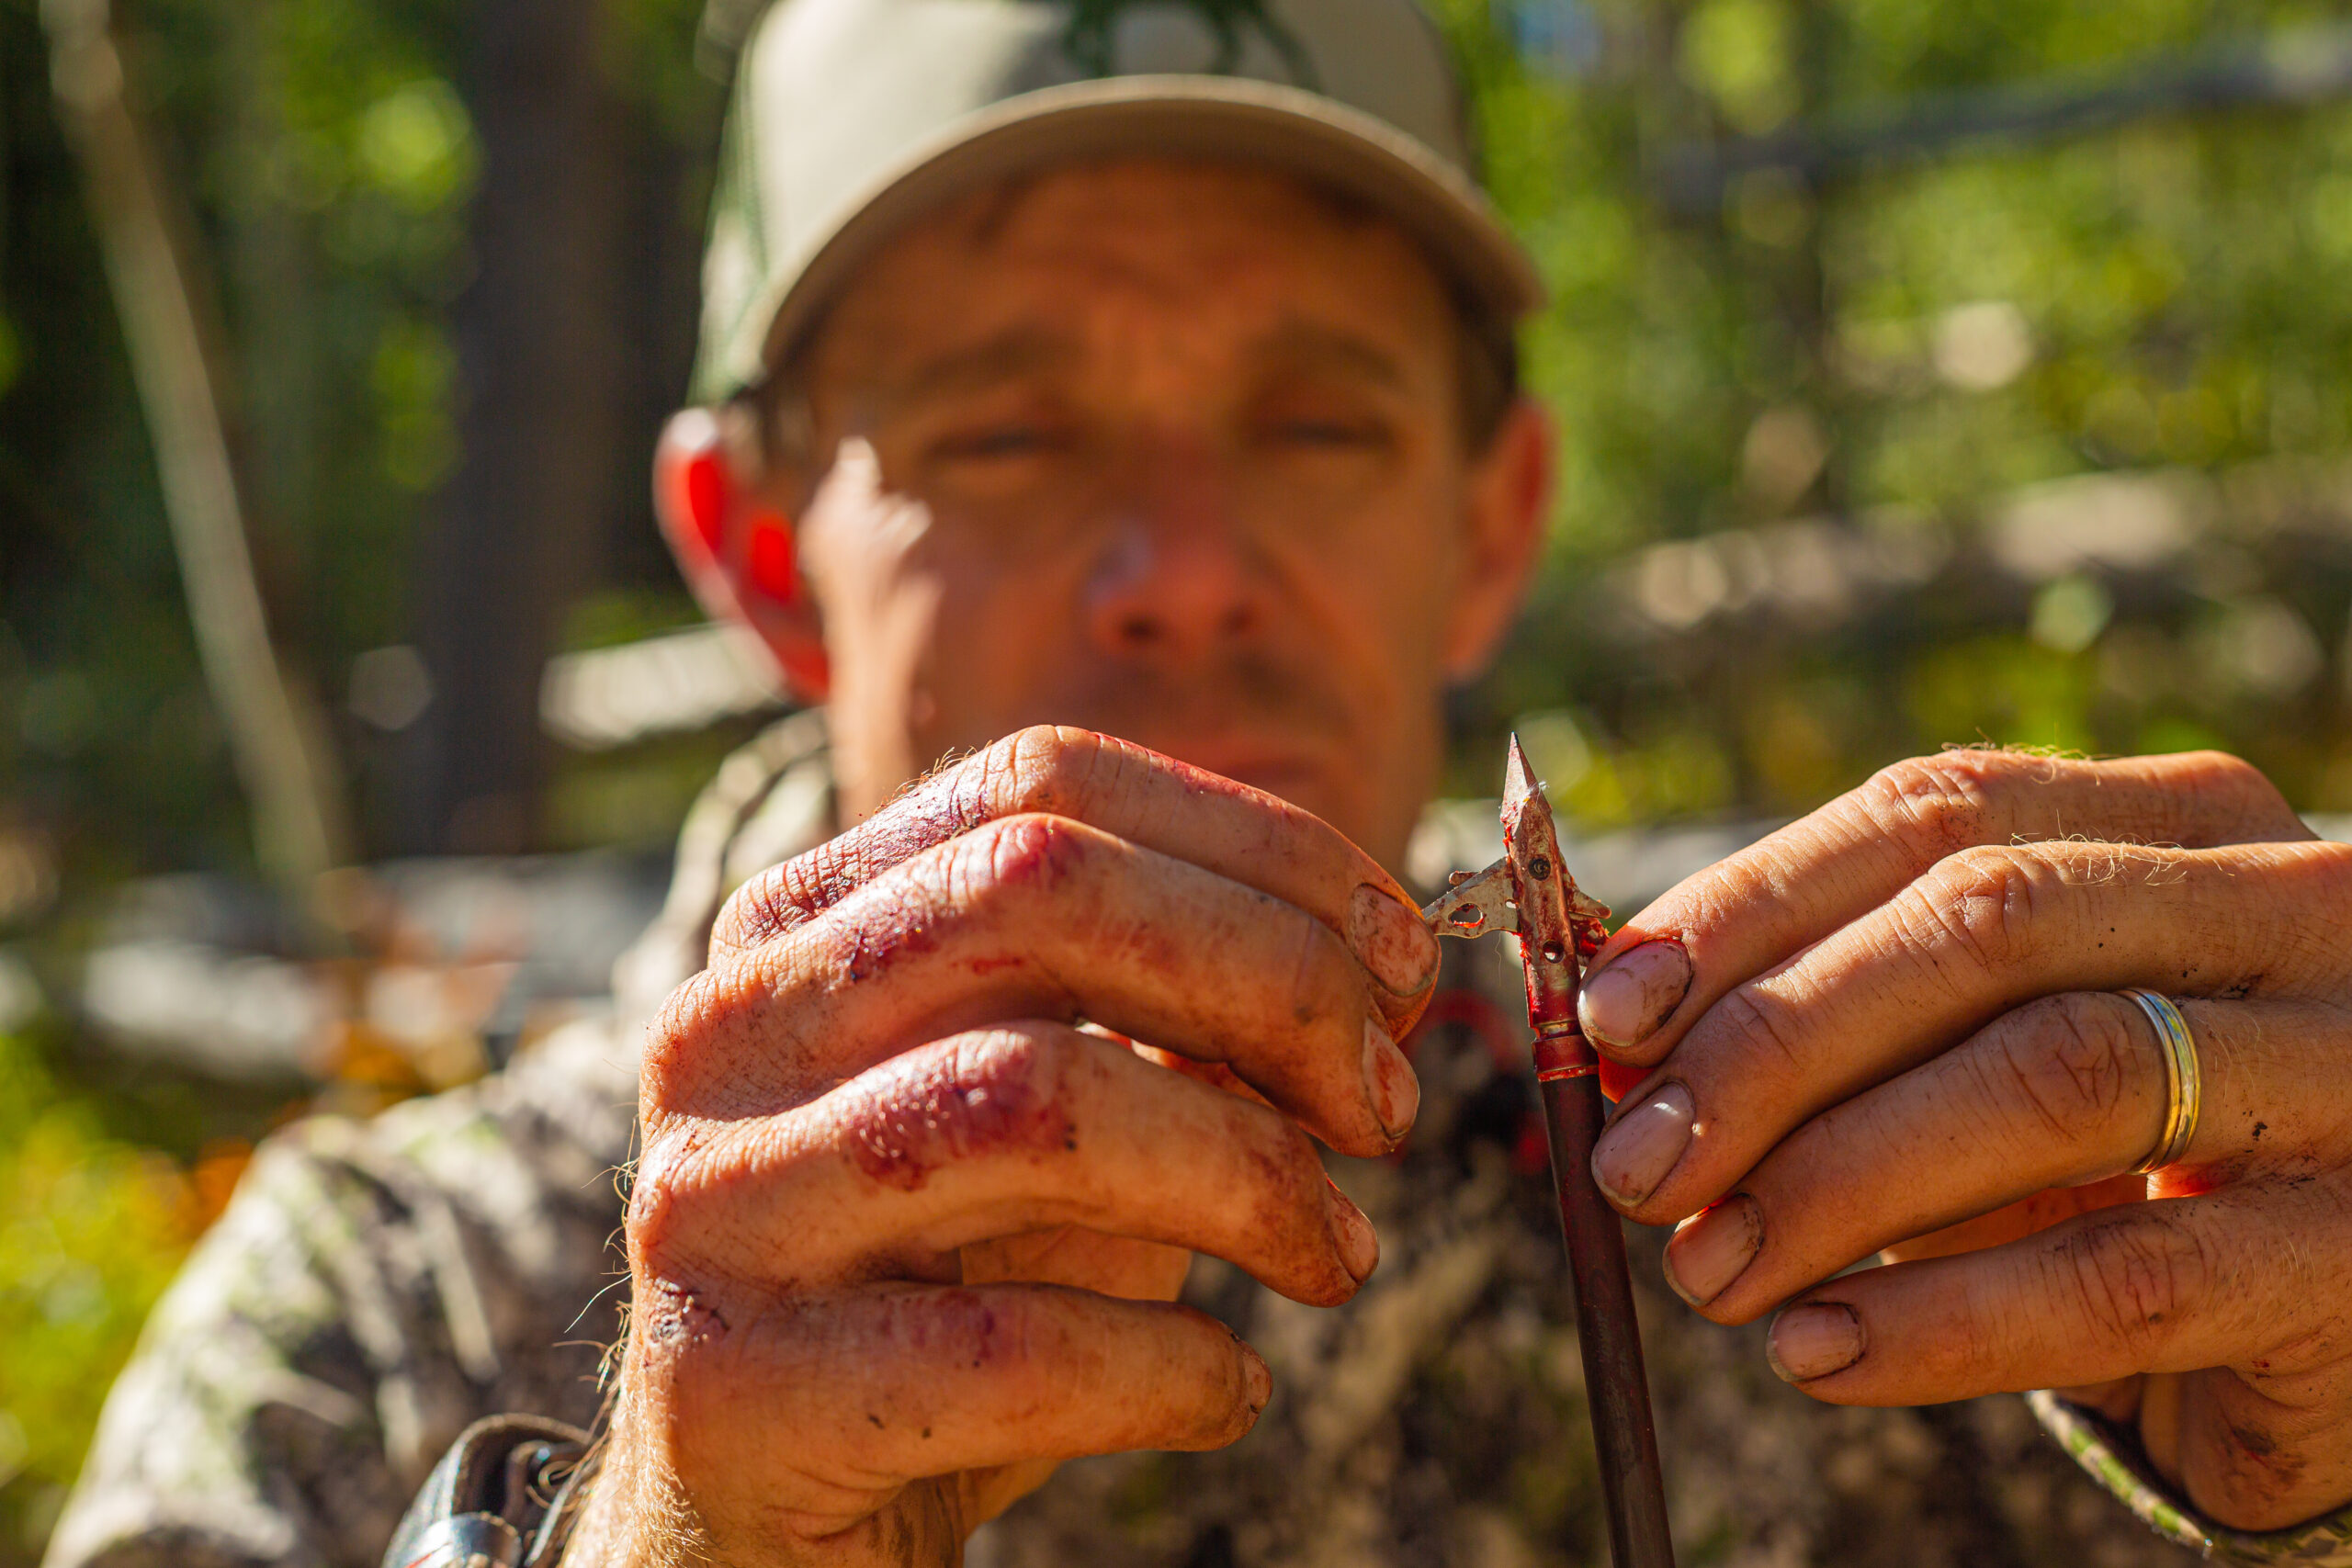
[{"label": "man's ear on the right, without bright red glow", "polygon": [[1470,458],[1465,559],[1446,630],[1446,679],[1475,679],[1510,632],[1543,562],[1552,515],[1552,423],[1517,397],[1486,451]]}]

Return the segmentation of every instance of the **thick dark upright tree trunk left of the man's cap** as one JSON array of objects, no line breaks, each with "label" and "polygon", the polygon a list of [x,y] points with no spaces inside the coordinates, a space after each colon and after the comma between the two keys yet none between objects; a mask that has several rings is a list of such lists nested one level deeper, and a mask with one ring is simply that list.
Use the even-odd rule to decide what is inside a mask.
[{"label": "thick dark upright tree trunk left of the man's cap", "polygon": [[468,106],[480,268],[456,306],[463,458],[421,541],[433,703],[409,731],[402,839],[510,853],[539,827],[539,677],[623,494],[628,115],[597,0],[480,0]]}]

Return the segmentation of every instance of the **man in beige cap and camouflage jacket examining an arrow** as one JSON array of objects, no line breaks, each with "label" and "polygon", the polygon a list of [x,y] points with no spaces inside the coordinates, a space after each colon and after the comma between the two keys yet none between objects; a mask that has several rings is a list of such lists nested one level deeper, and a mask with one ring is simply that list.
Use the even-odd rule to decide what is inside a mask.
[{"label": "man in beige cap and camouflage jacket examining an arrow", "polygon": [[[1498,959],[1383,870],[1550,482],[1465,167],[1404,0],[771,9],[661,494],[830,743],[609,1030],[256,1161],[52,1561],[374,1561],[602,1345],[595,1458],[475,1432],[416,1554],[1597,1561]],[[1595,1173],[1780,1307],[1649,1300],[1686,1561],[2178,1561],[2016,1401],[1875,1408],[2046,1387],[2173,1540],[2352,1561],[2347,898],[2227,759],[1962,752],[1632,917]]]}]

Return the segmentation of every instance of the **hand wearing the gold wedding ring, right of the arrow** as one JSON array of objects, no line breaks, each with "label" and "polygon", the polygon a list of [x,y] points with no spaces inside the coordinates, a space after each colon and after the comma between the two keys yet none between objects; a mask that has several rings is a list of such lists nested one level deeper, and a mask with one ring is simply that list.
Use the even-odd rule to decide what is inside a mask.
[{"label": "hand wearing the gold wedding ring, right of the arrow", "polygon": [[[2124,987],[2201,1063],[2152,1175],[2171,1088]],[[1637,914],[1583,1023],[1635,1088],[1602,1190],[1682,1220],[1710,1319],[1780,1307],[1806,1394],[2056,1387],[2225,1526],[2352,1500],[2352,846],[2244,762],[1898,764]]]}]

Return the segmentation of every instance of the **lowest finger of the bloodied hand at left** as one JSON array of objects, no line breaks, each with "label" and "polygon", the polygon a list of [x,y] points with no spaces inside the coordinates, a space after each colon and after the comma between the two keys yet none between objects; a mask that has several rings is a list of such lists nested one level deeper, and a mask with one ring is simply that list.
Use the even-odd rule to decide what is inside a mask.
[{"label": "lowest finger of the bloodied hand at left", "polygon": [[741,1321],[691,1298],[640,1312],[637,1420],[720,1559],[739,1533],[856,1528],[922,1476],[1223,1448],[1272,1389],[1216,1319],[1063,1286],[873,1286]]}]

